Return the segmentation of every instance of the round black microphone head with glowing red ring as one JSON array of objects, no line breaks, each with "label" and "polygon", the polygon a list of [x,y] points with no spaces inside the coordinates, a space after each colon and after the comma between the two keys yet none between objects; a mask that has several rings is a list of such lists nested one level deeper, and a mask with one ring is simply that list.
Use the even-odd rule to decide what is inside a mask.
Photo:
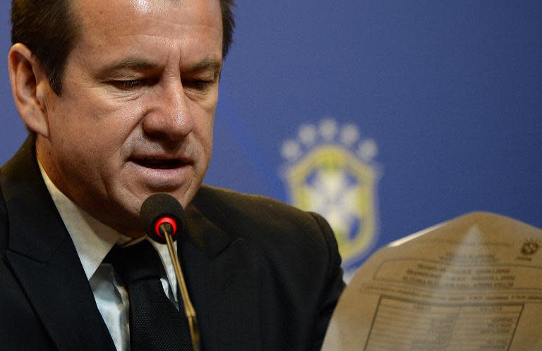
[{"label": "round black microphone head with glowing red ring", "polygon": [[159,230],[163,223],[169,223],[167,226],[171,225],[173,233],[170,234],[173,240],[176,240],[177,234],[183,231],[183,207],[175,197],[169,194],[150,195],[141,205],[139,214],[147,235],[160,244],[166,243],[165,236]]}]

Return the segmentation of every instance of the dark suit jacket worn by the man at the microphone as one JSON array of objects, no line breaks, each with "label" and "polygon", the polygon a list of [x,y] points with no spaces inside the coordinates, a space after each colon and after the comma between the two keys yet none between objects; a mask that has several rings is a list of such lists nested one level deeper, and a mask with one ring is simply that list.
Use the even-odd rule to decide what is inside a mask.
[{"label": "dark suit jacket worn by the man at the microphone", "polygon": [[[0,350],[114,350],[32,140],[0,187]],[[344,288],[323,218],[205,186],[186,215],[178,250],[203,350],[319,349]]]}]

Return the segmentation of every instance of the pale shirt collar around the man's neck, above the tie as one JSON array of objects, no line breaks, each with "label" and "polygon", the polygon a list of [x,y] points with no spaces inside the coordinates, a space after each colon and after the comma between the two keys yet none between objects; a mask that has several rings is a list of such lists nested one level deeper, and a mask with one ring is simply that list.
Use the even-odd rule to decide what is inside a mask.
[{"label": "pale shirt collar around the man's neck, above the tie", "polygon": [[[92,275],[94,275],[113,245],[128,246],[148,238],[146,235],[137,239],[129,238],[90,216],[54,185],[39,161],[38,165],[47,190],[49,190],[56,209],[59,211],[62,221],[64,221],[64,226],[66,226],[71,236],[73,245],[76,247],[88,280],[92,278]],[[157,242],[149,241],[157,250],[160,259],[162,259],[167,279],[171,284],[174,296],[176,296],[176,277],[167,245],[159,245]]]}]

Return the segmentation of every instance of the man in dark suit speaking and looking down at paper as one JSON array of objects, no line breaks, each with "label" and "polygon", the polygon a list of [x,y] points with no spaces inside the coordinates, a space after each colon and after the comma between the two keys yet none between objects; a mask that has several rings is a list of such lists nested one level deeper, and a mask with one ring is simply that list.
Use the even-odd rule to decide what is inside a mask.
[{"label": "man in dark suit speaking and looking down at paper", "polygon": [[131,290],[104,258],[146,241],[140,207],[159,192],[186,209],[177,250],[203,350],[320,347],[344,287],[327,223],[202,185],[231,6],[13,0],[9,72],[31,136],[0,171],[2,350],[138,350]]}]

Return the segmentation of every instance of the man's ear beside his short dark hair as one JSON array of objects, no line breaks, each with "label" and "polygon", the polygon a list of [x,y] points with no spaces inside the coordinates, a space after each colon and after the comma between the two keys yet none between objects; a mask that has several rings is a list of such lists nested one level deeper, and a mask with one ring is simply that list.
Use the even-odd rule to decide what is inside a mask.
[{"label": "man's ear beside his short dark hair", "polygon": [[13,99],[25,125],[35,133],[49,137],[45,98],[49,80],[37,58],[24,44],[14,44],[8,54],[9,78]]}]

